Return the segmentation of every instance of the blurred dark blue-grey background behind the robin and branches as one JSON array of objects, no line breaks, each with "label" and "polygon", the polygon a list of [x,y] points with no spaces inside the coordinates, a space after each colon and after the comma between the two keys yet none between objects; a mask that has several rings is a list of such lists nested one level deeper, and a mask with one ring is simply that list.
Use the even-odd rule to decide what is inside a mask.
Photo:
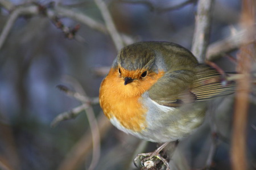
[{"label": "blurred dark blue-grey background behind the robin and branches", "polygon": [[[104,24],[101,12],[92,0],[9,2],[15,6],[30,6],[36,2],[50,10],[57,4]],[[197,1],[189,1],[187,5],[172,10],[166,8],[185,1],[105,2],[118,31],[133,41],[171,41],[191,49]],[[0,1],[0,31],[9,16],[10,10]],[[58,17],[65,27],[71,29],[80,24],[75,39],[65,37],[63,30],[58,29],[47,16],[21,15],[15,20],[0,49],[0,169],[88,169],[92,158],[96,161],[92,169],[133,169],[135,155],[155,150],[155,144],[149,143],[145,146],[146,150],[140,149],[144,143],[110,125],[98,104],[93,104],[92,108],[101,122],[98,126],[104,126],[100,133],[101,145],[94,143],[94,148],[101,148],[100,155],[95,150],[92,154],[92,137],[85,111],[75,119],[51,127],[57,115],[81,105],[81,101],[68,96],[56,86],[62,84],[72,91],[85,93],[89,99],[98,97],[98,88],[107,73],[103,71],[98,74],[98,70],[108,69],[117,55],[108,33],[75,19]],[[239,30],[240,17],[240,1],[216,0],[210,43],[225,39]],[[230,55],[236,57],[236,51]],[[228,57],[214,62],[225,71],[236,68],[236,63]],[[217,113],[217,123],[213,124],[221,134],[211,169],[231,169],[229,152],[233,98],[230,95],[218,99],[210,107],[210,113]],[[251,104],[247,124],[246,145],[250,169],[256,169],[255,109],[255,105]],[[174,158],[179,160],[174,163],[176,167],[179,164],[184,165],[180,169],[205,167],[209,148],[213,145],[210,127],[210,124],[205,124],[180,142],[177,149],[180,154]]]}]

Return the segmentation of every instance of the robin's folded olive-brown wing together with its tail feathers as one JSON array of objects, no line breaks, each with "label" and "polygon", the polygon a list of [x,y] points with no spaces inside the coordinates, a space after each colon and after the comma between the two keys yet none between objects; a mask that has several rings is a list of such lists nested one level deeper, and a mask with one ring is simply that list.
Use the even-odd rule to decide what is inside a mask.
[{"label": "robin's folded olive-brown wing together with its tail feathers", "polygon": [[161,105],[179,107],[184,103],[210,100],[234,92],[234,82],[225,82],[216,69],[198,65],[195,71],[166,73],[152,86],[149,97]]}]

